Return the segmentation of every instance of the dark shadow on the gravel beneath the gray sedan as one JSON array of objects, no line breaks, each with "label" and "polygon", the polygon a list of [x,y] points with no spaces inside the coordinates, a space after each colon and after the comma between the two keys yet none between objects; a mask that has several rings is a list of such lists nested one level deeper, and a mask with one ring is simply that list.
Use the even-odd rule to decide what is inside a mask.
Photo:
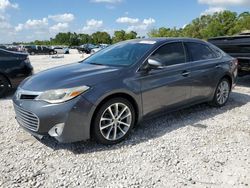
[{"label": "dark shadow on the gravel beneath the gray sedan", "polygon": [[[86,154],[115,150],[121,147],[133,146],[151,139],[161,137],[185,126],[192,126],[197,129],[206,129],[208,125],[201,121],[213,118],[232,109],[241,107],[250,101],[250,95],[233,92],[226,106],[222,108],[211,107],[208,104],[195,105],[172,113],[161,113],[142,121],[130,134],[130,136],[117,145],[104,146],[94,141],[82,141],[71,144],[62,144],[53,138],[44,137],[40,142],[54,150],[69,150],[74,154]],[[230,118],[230,117],[229,117]]]}]

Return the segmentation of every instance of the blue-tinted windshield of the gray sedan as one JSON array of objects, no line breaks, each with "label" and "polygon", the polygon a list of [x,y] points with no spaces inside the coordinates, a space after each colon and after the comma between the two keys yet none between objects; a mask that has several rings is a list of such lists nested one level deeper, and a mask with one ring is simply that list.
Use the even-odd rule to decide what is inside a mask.
[{"label": "blue-tinted windshield of the gray sedan", "polygon": [[129,66],[136,63],[152,44],[143,42],[123,42],[107,47],[90,56],[84,62],[110,66]]}]

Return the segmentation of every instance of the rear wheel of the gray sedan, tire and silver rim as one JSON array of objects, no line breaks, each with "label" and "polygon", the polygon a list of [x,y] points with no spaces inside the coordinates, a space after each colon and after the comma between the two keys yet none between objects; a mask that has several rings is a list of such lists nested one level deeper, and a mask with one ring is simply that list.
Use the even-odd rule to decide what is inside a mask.
[{"label": "rear wheel of the gray sedan, tire and silver rim", "polygon": [[229,99],[230,92],[231,92],[231,83],[229,82],[228,79],[223,78],[217,85],[211,105],[215,107],[225,106],[225,104]]}]

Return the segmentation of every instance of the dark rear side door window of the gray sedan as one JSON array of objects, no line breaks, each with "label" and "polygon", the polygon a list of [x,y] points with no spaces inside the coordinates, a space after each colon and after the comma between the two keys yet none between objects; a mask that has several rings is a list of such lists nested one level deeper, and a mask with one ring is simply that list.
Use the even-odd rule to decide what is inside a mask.
[{"label": "dark rear side door window of the gray sedan", "polygon": [[209,46],[205,44],[188,42],[186,43],[186,45],[189,51],[189,55],[193,61],[213,59],[218,57],[218,55],[215,54],[215,52],[213,52],[209,48]]}]

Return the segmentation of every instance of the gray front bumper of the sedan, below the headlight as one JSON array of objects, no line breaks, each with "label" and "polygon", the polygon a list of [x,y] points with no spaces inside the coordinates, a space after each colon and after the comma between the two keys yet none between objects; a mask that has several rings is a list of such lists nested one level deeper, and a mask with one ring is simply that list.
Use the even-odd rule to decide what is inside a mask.
[{"label": "gray front bumper of the sedan, below the headlight", "polygon": [[[63,124],[62,132],[59,135],[53,135],[59,142],[69,143],[90,138],[91,109],[94,106],[83,96],[60,104],[18,100],[15,96],[13,103],[16,119],[20,126],[34,136],[48,135],[54,126]],[[35,125],[32,125],[34,122]]]}]

